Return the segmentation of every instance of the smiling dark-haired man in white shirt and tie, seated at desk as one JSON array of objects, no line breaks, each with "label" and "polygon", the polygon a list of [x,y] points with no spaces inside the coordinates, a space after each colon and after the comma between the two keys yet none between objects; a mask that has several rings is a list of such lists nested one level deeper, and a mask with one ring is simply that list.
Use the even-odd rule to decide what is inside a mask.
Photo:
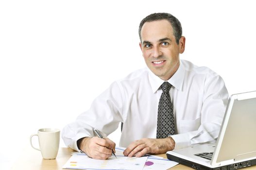
[{"label": "smiling dark-haired man in white shirt and tie, seated at desk", "polygon": [[222,78],[205,67],[180,60],[186,39],[179,20],[167,13],[139,25],[140,49],[148,68],[114,82],[91,108],[63,129],[66,145],[95,159],[115,152],[104,137],[123,122],[119,145],[126,156],[166,153],[218,137],[228,93]]}]

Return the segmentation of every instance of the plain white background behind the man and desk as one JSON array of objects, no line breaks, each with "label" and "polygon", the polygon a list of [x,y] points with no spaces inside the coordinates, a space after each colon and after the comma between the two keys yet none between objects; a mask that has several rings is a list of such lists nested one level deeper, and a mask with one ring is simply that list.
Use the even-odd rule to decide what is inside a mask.
[{"label": "plain white background behind the man and desk", "polygon": [[[256,90],[253,0],[1,0],[0,169],[37,129],[62,129],[113,81],[146,66],[137,30],[154,12],[182,23],[181,59],[216,71],[230,94]],[[119,132],[110,136],[117,145]]]}]

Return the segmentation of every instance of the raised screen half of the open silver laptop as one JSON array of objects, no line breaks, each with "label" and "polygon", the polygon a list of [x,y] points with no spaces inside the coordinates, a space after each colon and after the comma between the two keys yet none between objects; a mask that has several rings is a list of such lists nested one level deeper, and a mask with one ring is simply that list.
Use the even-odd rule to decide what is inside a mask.
[{"label": "raised screen half of the open silver laptop", "polygon": [[[256,156],[256,92],[254,98],[238,100],[231,96],[218,141],[219,153],[216,162],[241,160]],[[216,148],[217,150],[217,148]]]}]

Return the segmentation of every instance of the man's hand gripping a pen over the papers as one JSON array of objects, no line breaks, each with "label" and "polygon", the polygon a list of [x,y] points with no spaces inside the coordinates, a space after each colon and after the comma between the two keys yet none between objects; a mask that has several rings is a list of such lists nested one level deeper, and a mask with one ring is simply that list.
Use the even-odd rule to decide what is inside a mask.
[{"label": "man's hand gripping a pen over the papers", "polygon": [[94,159],[107,159],[116,153],[116,144],[109,138],[84,137],[77,141],[78,148]]}]

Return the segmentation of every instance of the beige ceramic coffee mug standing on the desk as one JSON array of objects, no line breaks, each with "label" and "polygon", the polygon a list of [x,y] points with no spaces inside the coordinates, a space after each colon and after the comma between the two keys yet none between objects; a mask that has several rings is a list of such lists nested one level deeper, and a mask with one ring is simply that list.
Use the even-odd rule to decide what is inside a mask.
[{"label": "beige ceramic coffee mug standing on the desk", "polygon": [[[37,136],[39,141],[39,147],[35,148],[32,145],[32,137]],[[32,148],[41,151],[44,159],[55,159],[59,150],[60,143],[60,130],[43,128],[37,131],[37,134],[30,136],[30,144]]]}]

